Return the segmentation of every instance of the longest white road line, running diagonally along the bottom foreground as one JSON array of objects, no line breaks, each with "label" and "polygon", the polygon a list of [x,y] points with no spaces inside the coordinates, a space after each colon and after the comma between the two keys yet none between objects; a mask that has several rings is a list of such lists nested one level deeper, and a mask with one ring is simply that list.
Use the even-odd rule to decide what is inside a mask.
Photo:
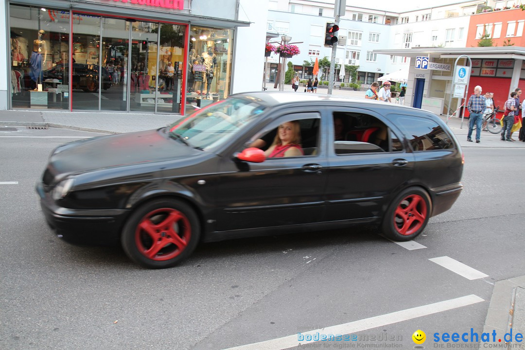
[{"label": "longest white road line, running diagonally along the bottom foreground", "polygon": [[[396,311],[390,314],[370,317],[370,319],[364,319],[359,321],[354,321],[350,323],[339,324],[331,327],[323,328],[322,330],[314,330],[310,332],[301,333],[302,335],[314,335],[319,334],[350,334],[356,332],[362,332],[369,330],[375,327],[382,327],[387,324],[392,324],[396,322],[403,322],[407,320],[412,320],[417,317],[427,316],[435,314],[438,312],[443,312],[447,310],[457,309],[458,307],[463,307],[471,304],[476,304],[479,302],[485,301],[479,296],[470,294],[466,296],[461,296],[460,298],[450,299],[445,301],[440,301],[434,304],[428,304],[423,306],[413,307],[412,309],[406,309],[401,311]],[[286,349],[289,347],[313,343],[314,341],[298,341],[297,334],[289,335],[282,338],[272,339],[265,342],[259,342],[254,344],[241,345],[237,347],[231,347],[225,350],[280,350]]]}]

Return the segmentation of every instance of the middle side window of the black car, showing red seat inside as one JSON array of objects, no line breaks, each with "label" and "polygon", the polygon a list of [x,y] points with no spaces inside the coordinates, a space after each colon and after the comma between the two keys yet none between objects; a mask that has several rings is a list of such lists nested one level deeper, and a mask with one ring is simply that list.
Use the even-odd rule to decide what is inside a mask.
[{"label": "middle side window of the black car, showing red seat inside", "polygon": [[334,112],[333,134],[337,155],[403,151],[388,126],[369,114]]}]

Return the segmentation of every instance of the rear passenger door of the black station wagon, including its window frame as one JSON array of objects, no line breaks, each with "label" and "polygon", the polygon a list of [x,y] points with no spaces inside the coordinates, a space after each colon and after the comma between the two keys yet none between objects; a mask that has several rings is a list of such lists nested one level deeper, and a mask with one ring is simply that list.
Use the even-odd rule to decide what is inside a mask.
[{"label": "rear passenger door of the black station wagon, including its window frame", "polygon": [[[326,113],[330,125],[326,219],[373,221],[413,176],[412,151],[401,132],[379,113],[343,107]],[[334,137],[334,119],[339,116],[348,118],[344,141]]]}]

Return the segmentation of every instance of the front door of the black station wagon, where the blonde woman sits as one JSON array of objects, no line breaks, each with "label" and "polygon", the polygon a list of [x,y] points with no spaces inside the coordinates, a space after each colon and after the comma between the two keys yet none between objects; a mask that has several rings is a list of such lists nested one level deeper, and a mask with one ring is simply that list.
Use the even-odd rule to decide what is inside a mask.
[{"label": "front door of the black station wagon, where the blonde woman sits", "polygon": [[245,145],[264,137],[282,123],[297,120],[301,124],[305,153],[296,157],[266,158],[262,163],[236,160],[233,153],[224,157],[219,165],[217,184],[216,227],[219,231],[323,220],[328,162],[326,126],[320,113],[294,109],[280,112],[277,118],[271,119],[272,122],[240,140],[235,150],[243,150]]}]

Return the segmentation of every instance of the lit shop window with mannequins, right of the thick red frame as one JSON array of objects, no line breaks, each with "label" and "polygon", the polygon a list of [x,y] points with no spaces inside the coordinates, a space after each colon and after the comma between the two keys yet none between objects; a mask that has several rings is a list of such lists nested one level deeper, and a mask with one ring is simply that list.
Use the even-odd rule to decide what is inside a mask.
[{"label": "lit shop window with mannequins, right of the thick red frame", "polygon": [[192,27],[187,64],[186,113],[228,96],[233,29]]}]

